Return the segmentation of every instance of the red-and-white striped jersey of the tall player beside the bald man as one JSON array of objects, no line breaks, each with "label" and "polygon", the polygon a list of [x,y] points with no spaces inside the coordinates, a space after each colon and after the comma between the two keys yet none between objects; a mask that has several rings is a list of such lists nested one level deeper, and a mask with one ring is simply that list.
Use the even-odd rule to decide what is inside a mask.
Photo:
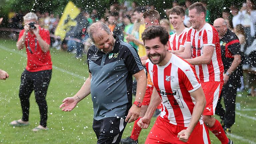
[{"label": "red-and-white striped jersey of the tall player beside the bald man", "polygon": [[203,54],[204,46],[214,46],[214,52],[209,64],[195,65],[197,76],[200,82],[223,81],[224,67],[221,60],[221,48],[218,32],[206,23],[199,31],[190,29],[185,43],[191,46],[192,57]]}]

